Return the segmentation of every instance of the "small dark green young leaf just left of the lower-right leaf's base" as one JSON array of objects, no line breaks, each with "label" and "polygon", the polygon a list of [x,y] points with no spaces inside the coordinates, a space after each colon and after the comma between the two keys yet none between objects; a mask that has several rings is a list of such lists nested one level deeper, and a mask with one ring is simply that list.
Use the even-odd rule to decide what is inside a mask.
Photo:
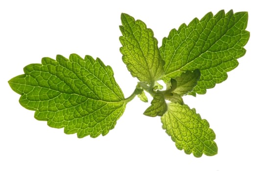
[{"label": "small dark green young leaf just left of the lower-right leaf's base", "polygon": [[151,106],[148,107],[143,114],[151,117],[163,116],[166,110],[167,105],[165,103],[164,96],[160,91],[157,91],[157,93],[153,96]]}]

